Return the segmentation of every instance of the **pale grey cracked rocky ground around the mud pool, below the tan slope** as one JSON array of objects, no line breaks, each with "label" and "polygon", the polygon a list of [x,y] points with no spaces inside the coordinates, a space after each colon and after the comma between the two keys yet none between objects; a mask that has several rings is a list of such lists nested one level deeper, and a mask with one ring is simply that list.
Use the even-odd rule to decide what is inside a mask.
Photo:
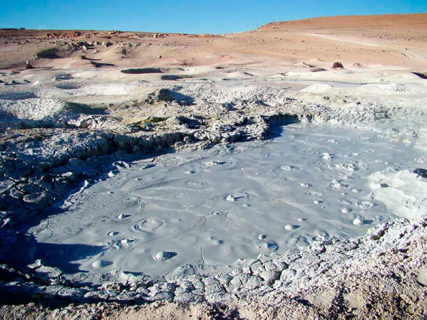
[{"label": "pale grey cracked rocky ground around the mud pool, below the tan slope", "polygon": [[[83,36],[50,34],[46,37],[56,42]],[[3,43],[1,50],[26,46],[25,37],[22,44],[6,38],[11,43]],[[410,51],[419,54],[414,49],[419,37],[413,41]],[[112,44],[100,42],[102,63],[111,63],[107,48]],[[248,60],[238,66],[216,60],[201,67],[188,61],[97,67],[93,62],[101,62],[79,58],[78,50],[68,62],[40,58],[33,64],[41,68],[21,70],[12,63],[0,73],[2,318],[425,319],[427,202],[422,197],[416,213],[378,225],[364,237],[238,260],[231,272],[215,275],[192,265],[156,279],[126,272],[64,274],[41,260],[24,263],[13,252],[14,246],[31,241],[17,225],[43,219],[47,208],[112,169],[169,152],[270,139],[274,124],[374,125],[391,139],[425,148],[424,58],[418,57],[419,68],[412,69],[310,72],[326,68],[322,62],[293,63],[279,72],[265,67],[272,60],[250,66]],[[46,63],[55,68],[45,68]],[[70,65],[60,70],[60,63]],[[408,174],[426,183],[426,159],[419,165]]]}]

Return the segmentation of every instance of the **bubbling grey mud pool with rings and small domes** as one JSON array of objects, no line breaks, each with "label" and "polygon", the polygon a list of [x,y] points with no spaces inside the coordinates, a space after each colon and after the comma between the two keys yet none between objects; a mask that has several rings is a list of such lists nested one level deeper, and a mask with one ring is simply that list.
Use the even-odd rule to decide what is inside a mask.
[{"label": "bubbling grey mud pool with rings and small domes", "polygon": [[65,272],[164,275],[363,235],[396,217],[371,197],[367,176],[423,155],[374,128],[280,130],[268,142],[166,154],[85,183],[28,231],[34,257]]}]

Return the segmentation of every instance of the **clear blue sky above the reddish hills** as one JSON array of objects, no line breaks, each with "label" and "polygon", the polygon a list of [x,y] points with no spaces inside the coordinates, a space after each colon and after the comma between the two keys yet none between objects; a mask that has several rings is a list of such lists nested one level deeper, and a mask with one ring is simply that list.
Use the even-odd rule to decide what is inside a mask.
[{"label": "clear blue sky above the reddish hills", "polygon": [[315,16],[426,12],[427,0],[0,0],[0,28],[231,33]]}]

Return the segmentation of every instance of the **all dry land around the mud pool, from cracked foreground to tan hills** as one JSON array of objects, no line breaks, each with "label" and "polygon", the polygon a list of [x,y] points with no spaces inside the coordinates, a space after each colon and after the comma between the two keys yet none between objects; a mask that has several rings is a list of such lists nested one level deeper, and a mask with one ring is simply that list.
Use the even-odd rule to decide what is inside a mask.
[{"label": "all dry land around the mud pool, from cracked foreground to tan hills", "polygon": [[395,220],[217,274],[69,274],[27,233],[115,171],[275,124],[370,128],[425,152],[426,41],[427,14],[221,35],[0,29],[0,318],[426,319],[426,156],[369,177]]}]

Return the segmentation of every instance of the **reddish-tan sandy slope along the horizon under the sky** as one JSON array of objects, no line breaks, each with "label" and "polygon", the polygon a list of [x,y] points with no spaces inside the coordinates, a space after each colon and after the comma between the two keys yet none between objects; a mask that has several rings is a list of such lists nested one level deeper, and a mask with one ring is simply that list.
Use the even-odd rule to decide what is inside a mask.
[{"label": "reddish-tan sandy slope along the horizon under the sky", "polygon": [[[181,35],[102,31],[0,31],[0,68],[22,68],[26,60],[40,67],[95,68],[80,55],[117,67],[149,65],[277,64],[290,68],[306,62],[349,68],[394,66],[427,68],[427,14],[342,16],[268,23],[254,31],[225,35]],[[112,46],[78,46],[110,41]],[[77,43],[77,46],[70,46]],[[36,60],[40,48],[56,47],[64,59]],[[95,53],[96,51],[99,51]],[[158,58],[159,56],[162,58]]]}]

